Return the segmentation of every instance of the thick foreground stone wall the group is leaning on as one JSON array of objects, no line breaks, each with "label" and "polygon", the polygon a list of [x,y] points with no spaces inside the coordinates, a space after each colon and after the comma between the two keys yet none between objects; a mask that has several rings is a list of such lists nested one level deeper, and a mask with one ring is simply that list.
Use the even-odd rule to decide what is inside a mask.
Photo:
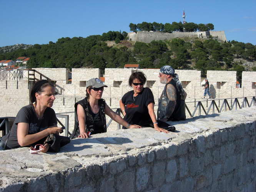
[{"label": "thick foreground stone wall the group is leaning on", "polygon": [[168,134],[126,129],[74,139],[59,153],[0,151],[0,191],[256,190],[256,108],[200,116]]}]

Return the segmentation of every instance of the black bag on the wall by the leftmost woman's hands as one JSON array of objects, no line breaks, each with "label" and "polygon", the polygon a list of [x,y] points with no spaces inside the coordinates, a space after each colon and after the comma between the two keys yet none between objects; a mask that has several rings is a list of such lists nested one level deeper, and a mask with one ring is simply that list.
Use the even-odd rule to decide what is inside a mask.
[{"label": "black bag on the wall by the leftmost woman's hands", "polygon": [[65,136],[60,136],[57,134],[50,134],[46,139],[43,144],[49,144],[49,152],[59,152],[60,147],[65,146],[70,142],[70,139]]}]

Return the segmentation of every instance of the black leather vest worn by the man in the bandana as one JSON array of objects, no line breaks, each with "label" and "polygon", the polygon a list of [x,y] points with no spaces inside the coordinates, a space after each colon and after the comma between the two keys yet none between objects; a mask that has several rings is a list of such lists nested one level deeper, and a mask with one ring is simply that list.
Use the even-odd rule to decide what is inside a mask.
[{"label": "black leather vest worn by the man in the bandana", "polygon": [[168,121],[181,121],[186,119],[186,114],[185,114],[185,101],[181,100],[181,94],[180,91],[178,90],[176,86],[176,82],[171,79],[170,82],[166,83],[165,88],[158,99],[158,110],[157,110],[157,119],[161,121],[161,119],[165,118],[165,114],[168,111],[168,103],[169,99],[167,97],[166,93],[166,87],[168,84],[172,84],[175,89],[176,89],[176,106],[171,114],[171,116],[168,118]]}]

